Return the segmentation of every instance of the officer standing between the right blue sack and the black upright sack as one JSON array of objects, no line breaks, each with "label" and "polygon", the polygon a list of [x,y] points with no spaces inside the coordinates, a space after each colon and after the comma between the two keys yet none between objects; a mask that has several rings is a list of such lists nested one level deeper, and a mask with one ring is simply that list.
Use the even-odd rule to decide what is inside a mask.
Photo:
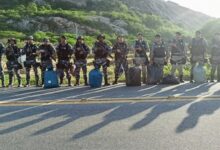
[{"label": "officer standing between the right blue sack and the black upright sack", "polygon": [[123,36],[117,37],[117,42],[113,46],[112,51],[115,54],[115,81],[113,84],[117,84],[121,69],[124,69],[125,76],[128,70],[127,55],[129,50]]}]

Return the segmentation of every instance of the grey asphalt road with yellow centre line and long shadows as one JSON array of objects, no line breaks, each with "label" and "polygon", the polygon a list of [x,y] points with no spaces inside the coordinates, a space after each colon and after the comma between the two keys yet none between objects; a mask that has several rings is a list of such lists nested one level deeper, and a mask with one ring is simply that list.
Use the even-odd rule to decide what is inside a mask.
[{"label": "grey asphalt road with yellow centre line and long shadows", "polygon": [[[185,89],[118,85],[103,89],[59,88],[47,90],[49,94],[42,89],[36,92],[35,88],[1,90],[0,150],[219,150],[219,84],[179,86]],[[159,99],[172,93],[185,96],[190,90],[189,96],[197,97]],[[87,98],[101,91],[99,98],[122,93],[127,100],[94,99],[92,103],[76,104],[76,99],[68,99]],[[146,100],[130,99],[135,98],[129,97],[131,92]],[[155,97],[152,100],[143,96],[153,93],[157,94],[148,96]],[[213,95],[216,98],[203,97]]]}]

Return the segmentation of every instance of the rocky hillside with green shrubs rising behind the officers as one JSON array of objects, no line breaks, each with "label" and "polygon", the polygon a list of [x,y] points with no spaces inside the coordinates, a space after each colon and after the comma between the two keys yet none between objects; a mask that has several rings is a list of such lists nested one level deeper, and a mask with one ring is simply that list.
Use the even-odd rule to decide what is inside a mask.
[{"label": "rocky hillside with green shrubs rising behind the officers", "polygon": [[[190,17],[189,17],[190,16]],[[163,0],[1,0],[0,37],[57,34],[96,35],[103,32],[134,38],[143,32],[190,34],[212,18]],[[9,34],[10,33],[10,34]]]}]

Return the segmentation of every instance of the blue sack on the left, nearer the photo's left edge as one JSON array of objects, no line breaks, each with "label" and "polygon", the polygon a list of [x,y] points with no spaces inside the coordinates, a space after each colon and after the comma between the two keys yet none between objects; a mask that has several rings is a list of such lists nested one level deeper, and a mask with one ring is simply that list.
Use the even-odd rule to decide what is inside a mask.
[{"label": "blue sack on the left, nearer the photo's left edge", "polygon": [[44,74],[44,88],[57,88],[59,81],[57,73],[53,70],[47,70]]}]

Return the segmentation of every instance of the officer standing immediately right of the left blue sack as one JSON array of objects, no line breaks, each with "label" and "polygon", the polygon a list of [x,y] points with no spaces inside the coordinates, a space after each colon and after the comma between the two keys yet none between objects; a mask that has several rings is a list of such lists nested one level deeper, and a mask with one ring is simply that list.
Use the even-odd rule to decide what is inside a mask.
[{"label": "officer standing immediately right of the left blue sack", "polygon": [[68,86],[72,86],[70,75],[70,68],[72,66],[72,63],[70,62],[70,59],[73,55],[73,50],[71,45],[67,42],[67,38],[65,36],[60,37],[60,43],[56,47],[56,50],[58,57],[57,72],[60,77],[60,84],[63,84],[65,72],[68,80]]}]

